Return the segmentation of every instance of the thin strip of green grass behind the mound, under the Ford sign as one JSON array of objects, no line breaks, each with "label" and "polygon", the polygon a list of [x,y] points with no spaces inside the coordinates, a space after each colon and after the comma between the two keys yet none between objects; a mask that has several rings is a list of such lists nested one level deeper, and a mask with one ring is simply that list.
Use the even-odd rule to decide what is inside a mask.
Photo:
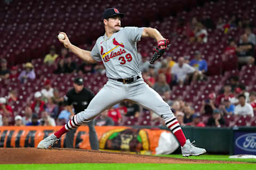
[{"label": "thin strip of green grass behind the mound, under the Ford sign", "polygon": [[229,158],[229,155],[201,155],[201,156],[190,156],[188,158],[182,157],[182,155],[159,155],[159,156],[173,157],[173,158],[185,158],[185,159],[222,160],[222,161],[256,163],[256,159],[253,159],[253,158],[249,158],[249,159],[247,159],[247,158],[240,158],[240,159],[239,158]]}]

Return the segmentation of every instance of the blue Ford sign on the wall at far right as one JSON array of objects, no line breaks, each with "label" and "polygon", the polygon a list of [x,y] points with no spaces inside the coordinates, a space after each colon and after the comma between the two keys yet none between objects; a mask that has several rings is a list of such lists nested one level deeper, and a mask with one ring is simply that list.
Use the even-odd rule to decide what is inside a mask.
[{"label": "blue Ford sign on the wall at far right", "polygon": [[234,132],[234,154],[256,155],[256,133]]}]

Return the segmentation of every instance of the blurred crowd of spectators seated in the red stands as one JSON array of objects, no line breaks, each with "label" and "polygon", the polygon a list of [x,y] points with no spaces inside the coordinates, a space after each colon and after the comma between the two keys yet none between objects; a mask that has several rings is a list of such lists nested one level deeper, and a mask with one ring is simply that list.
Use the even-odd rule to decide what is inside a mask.
[{"label": "blurred crowd of spectators seated in the red stands", "polygon": [[[231,16],[229,21],[219,18],[216,23],[207,16],[203,16],[201,21],[193,17],[187,23],[180,19],[173,36],[183,37],[191,44],[203,45],[209,42],[208,37],[211,33],[208,31],[209,29],[224,33],[228,33],[232,29],[241,29],[243,30],[241,35],[233,35],[226,39],[229,44],[223,48],[219,60],[223,63],[231,63],[233,61],[230,61],[230,56],[236,56],[238,60],[235,64],[238,65],[239,71],[249,67],[255,70],[256,37],[252,28],[253,25],[249,20],[239,19],[236,15]],[[237,37],[239,40],[235,41]],[[57,51],[54,46],[51,46],[49,54],[43,59],[42,68],[51,67],[53,73],[57,75],[77,73],[76,75],[83,76],[86,73],[105,73],[102,63],[77,62],[66,48],[61,48],[60,53]],[[230,75],[217,91],[211,90],[207,92],[206,96],[198,98],[199,107],[196,107],[195,102],[191,102],[191,100],[171,97],[172,94],[178,93],[177,87],[185,90],[183,87],[191,87],[197,83],[211,83],[209,82],[212,80],[212,77],[209,76],[209,61],[204,60],[205,53],[203,54],[200,49],[195,49],[192,54],[191,57],[183,56],[176,58],[177,60],[174,60],[173,56],[166,56],[154,65],[150,65],[149,54],[142,51],[138,53],[141,57],[142,78],[170,105],[180,125],[196,127],[256,125],[256,92],[252,89],[247,90],[247,84],[244,84],[241,81],[242,78],[237,74]],[[24,86],[37,79],[37,70],[31,62],[25,63],[22,69],[19,70],[18,66],[11,66],[9,69],[7,60],[2,58],[0,79],[18,80]],[[222,75],[224,74],[225,72],[222,72]],[[65,77],[62,79],[66,81]],[[19,96],[15,89],[11,89],[9,95],[1,96],[0,126],[55,126],[67,123],[71,113],[64,95],[60,94],[60,89],[52,87],[50,78],[43,79],[42,83],[43,88],[38,89],[34,93],[34,98],[26,103],[23,113],[14,114],[13,112],[12,104],[17,101]],[[86,86],[85,88],[90,89]],[[179,94],[181,93],[182,91],[179,91]],[[193,97],[190,96],[190,98]],[[146,108],[142,108],[132,101],[123,101],[96,117],[95,125],[164,125],[164,122]]]}]

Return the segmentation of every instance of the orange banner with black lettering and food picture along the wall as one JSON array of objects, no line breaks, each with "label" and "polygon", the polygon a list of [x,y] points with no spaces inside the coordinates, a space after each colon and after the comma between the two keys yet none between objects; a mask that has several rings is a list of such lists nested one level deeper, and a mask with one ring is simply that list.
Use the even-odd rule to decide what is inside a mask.
[{"label": "orange banner with black lettering and food picture along the wall", "polygon": [[[2,126],[0,147],[36,147],[39,141],[60,128],[61,126]],[[95,126],[95,130],[101,150],[162,154],[179,147],[174,135],[166,130],[135,129],[126,126]],[[62,135],[53,147],[65,148],[67,140],[73,140],[73,148],[91,149],[88,126],[79,126],[74,139],[66,139],[66,134]]]}]

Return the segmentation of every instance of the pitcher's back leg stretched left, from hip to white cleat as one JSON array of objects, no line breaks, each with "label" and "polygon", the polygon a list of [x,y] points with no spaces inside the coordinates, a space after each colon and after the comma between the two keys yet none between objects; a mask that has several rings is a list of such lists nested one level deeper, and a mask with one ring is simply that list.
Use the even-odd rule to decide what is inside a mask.
[{"label": "pitcher's back leg stretched left, from hip to white cleat", "polygon": [[82,124],[90,122],[106,108],[125,99],[125,97],[126,91],[124,86],[120,86],[115,80],[109,80],[98,94],[94,96],[85,111],[74,115],[58,132],[55,132],[39,142],[37,148],[47,149],[55,143],[62,134],[72,129],[76,129]]}]

